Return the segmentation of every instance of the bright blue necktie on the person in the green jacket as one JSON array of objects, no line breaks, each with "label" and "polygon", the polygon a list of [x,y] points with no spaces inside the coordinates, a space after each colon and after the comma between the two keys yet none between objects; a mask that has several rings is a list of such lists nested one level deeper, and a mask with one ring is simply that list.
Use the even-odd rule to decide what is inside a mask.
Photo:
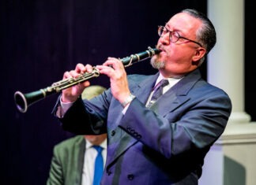
[{"label": "bright blue necktie on the person in the green jacket", "polygon": [[98,152],[95,160],[95,166],[94,166],[93,185],[99,185],[100,179],[104,172],[104,160],[101,154],[101,151],[103,150],[103,148],[101,146],[92,146],[92,147]]}]

